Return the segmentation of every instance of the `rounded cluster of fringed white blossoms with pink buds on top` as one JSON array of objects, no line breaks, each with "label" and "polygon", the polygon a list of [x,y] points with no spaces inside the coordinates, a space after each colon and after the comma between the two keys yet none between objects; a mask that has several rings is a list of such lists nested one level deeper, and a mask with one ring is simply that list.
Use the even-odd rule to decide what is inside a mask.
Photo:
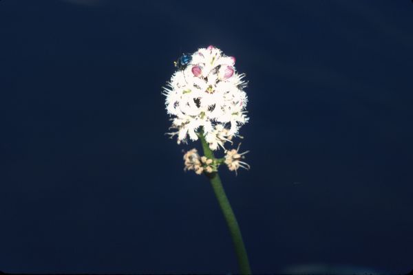
[{"label": "rounded cluster of fringed white blossoms with pink buds on top", "polygon": [[202,126],[209,148],[224,148],[248,121],[244,74],[237,74],[234,65],[234,57],[213,46],[178,59],[178,70],[163,92],[173,115],[171,129],[176,129],[169,134],[178,135],[178,144],[188,137],[198,140]]}]

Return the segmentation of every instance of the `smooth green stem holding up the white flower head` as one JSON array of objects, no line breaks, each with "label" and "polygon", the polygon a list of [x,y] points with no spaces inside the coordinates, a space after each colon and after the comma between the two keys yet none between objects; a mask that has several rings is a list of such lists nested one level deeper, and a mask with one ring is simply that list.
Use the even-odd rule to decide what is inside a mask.
[{"label": "smooth green stem holding up the white flower head", "polygon": [[[209,145],[205,140],[202,131],[200,132],[199,137],[202,143],[202,148],[204,149],[205,157],[209,159],[215,159],[215,156],[209,148]],[[235,214],[231,208],[231,204],[229,203],[229,200],[226,197],[220,176],[218,175],[218,172],[208,174],[207,176],[211,181],[213,191],[215,192],[215,197],[217,197],[218,203],[220,203],[220,208],[222,210],[222,214],[224,214],[226,225],[228,225],[229,232],[231,233],[235,253],[237,254],[238,265],[240,266],[240,273],[251,274],[251,268],[248,262],[248,256],[246,254],[244,241],[242,241],[240,226],[238,225],[237,219],[235,218]]]}]

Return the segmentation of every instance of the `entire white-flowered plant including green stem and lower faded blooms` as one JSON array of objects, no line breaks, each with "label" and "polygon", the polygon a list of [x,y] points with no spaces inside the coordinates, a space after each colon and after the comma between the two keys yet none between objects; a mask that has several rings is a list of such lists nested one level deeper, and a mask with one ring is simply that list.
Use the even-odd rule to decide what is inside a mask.
[{"label": "entire white-flowered plant including green stem and lower faded blooms", "polygon": [[[251,274],[241,230],[218,175],[220,164],[235,173],[240,167],[250,167],[241,160],[248,151],[238,153],[239,145],[237,149],[225,148],[226,143],[233,144],[234,137],[240,137],[240,126],[248,122],[244,74],[236,72],[234,57],[213,46],[183,54],[175,65],[178,69],[162,93],[172,120],[169,135],[176,135],[178,144],[200,140],[204,155],[195,148],[184,153],[184,170],[207,175],[228,224],[240,266],[238,273]],[[226,155],[216,158],[213,151],[220,148]]]}]

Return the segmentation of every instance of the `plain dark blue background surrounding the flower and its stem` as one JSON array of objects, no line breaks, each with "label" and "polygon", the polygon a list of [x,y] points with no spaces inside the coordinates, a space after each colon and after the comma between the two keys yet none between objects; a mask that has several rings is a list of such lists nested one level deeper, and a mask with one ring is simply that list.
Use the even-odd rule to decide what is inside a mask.
[{"label": "plain dark blue background surrounding the flower and its stem", "polygon": [[164,135],[209,44],[249,81],[222,179],[253,272],[412,269],[411,1],[3,0],[0,35],[0,270],[237,272],[199,144]]}]

